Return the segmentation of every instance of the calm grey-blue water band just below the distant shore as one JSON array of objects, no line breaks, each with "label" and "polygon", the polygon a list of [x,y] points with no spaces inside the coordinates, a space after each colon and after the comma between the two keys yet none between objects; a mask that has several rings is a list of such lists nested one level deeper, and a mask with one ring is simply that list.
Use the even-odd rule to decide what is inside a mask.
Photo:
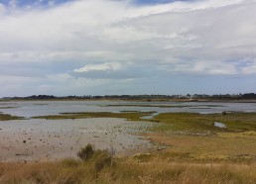
[{"label": "calm grey-blue water band just below the distant shore", "polygon": [[[114,105],[114,106],[112,106]],[[120,105],[120,106],[115,106]],[[128,105],[128,106],[125,106]],[[134,105],[134,106],[133,106]],[[138,107],[154,106],[154,107]],[[157,107],[161,106],[161,107]],[[165,107],[164,106],[173,106]],[[21,117],[57,115],[66,112],[114,112],[155,111],[221,113],[223,111],[256,112],[256,103],[209,103],[209,102],[123,102],[123,101],[31,101],[0,102],[0,112]]]}]

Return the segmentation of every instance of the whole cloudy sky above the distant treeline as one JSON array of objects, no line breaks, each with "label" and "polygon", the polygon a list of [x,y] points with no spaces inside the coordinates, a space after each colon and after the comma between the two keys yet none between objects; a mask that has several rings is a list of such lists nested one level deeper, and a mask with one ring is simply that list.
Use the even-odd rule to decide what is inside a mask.
[{"label": "whole cloudy sky above the distant treeline", "polygon": [[0,0],[0,97],[256,93],[256,0]]}]

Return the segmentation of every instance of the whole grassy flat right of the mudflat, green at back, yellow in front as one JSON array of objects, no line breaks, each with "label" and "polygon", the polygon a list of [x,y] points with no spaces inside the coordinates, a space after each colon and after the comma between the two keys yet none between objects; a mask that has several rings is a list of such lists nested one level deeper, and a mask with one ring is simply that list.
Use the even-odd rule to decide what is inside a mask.
[{"label": "whole grassy flat right of the mudflat, green at back, yellow in front", "polygon": [[[195,114],[165,113],[148,137],[166,148],[158,157],[173,161],[255,162],[256,113]],[[217,128],[221,122],[227,128]]]}]

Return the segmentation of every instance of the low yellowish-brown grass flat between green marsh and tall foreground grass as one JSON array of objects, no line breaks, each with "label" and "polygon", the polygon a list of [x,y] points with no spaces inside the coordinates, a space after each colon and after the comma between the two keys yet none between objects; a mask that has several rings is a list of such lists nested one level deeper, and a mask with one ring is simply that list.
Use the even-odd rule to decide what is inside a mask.
[{"label": "low yellowish-brown grass flat between green marsh and tall foreground grass", "polygon": [[[211,137],[187,135],[146,134],[157,145],[165,145],[163,150],[170,159],[187,155],[187,159],[255,161],[256,135],[250,133],[219,133]],[[168,156],[166,156],[168,157]],[[183,159],[185,157],[183,156]]]}]

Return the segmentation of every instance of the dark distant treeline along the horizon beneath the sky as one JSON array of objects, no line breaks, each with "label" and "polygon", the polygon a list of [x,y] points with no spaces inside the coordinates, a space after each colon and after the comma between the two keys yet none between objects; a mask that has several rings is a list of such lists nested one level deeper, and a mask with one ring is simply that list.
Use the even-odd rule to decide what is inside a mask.
[{"label": "dark distant treeline along the horizon beneath the sky", "polygon": [[53,95],[32,95],[28,97],[4,97],[1,100],[256,100],[255,93],[245,94],[187,94],[187,95],[104,95],[104,96],[53,96]]}]

